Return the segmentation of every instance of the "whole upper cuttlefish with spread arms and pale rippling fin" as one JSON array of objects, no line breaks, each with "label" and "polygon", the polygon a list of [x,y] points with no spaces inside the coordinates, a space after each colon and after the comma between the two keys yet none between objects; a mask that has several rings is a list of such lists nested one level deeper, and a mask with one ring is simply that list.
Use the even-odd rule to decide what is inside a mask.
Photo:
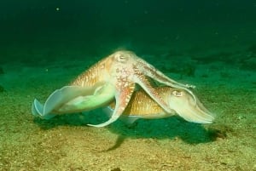
[{"label": "whole upper cuttlefish with spread arms and pale rippling fin", "polygon": [[[195,94],[189,89],[195,86],[177,83],[133,52],[121,50],[91,66],[69,85],[55,90],[49,95],[44,105],[35,99],[32,103],[32,113],[35,116],[49,119],[55,114],[92,110],[115,99],[113,115],[107,122],[97,125],[88,124],[94,127],[104,127],[116,121],[125,111],[136,85],[143,88],[146,94],[166,113],[171,113],[172,109],[152,87],[148,78],[172,88],[182,89],[191,94],[194,103],[197,103]],[[97,100],[91,100],[94,98]],[[88,100],[93,104],[88,105]]]}]

